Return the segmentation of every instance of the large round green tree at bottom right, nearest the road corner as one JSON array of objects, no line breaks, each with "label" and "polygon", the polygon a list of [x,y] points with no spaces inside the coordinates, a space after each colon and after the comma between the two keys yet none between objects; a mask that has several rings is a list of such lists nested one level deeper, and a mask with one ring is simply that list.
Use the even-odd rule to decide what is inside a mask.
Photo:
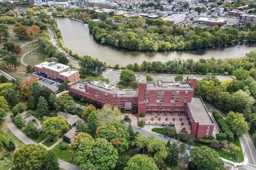
[{"label": "large round green tree at bottom right, nearest the road corner", "polygon": [[209,147],[194,147],[190,150],[191,166],[197,170],[223,170],[224,164],[219,154]]}]

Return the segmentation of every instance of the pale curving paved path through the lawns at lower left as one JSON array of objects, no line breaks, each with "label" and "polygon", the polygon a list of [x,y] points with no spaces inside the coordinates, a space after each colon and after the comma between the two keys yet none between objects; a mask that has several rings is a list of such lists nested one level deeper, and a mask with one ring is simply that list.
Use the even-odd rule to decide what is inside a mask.
[{"label": "pale curving paved path through the lawns at lower left", "polygon": [[[7,125],[7,127],[10,129],[10,131],[12,131],[12,133],[13,133],[16,137],[18,137],[18,139],[20,139],[20,141],[22,141],[22,142],[25,143],[26,145],[28,145],[28,144],[35,144],[35,145],[37,145],[36,142],[34,142],[32,139],[30,139],[29,137],[27,137],[26,135],[24,135],[24,134],[14,125],[14,123],[12,122],[12,119],[11,119],[11,117],[10,117],[9,111],[7,111],[6,125]],[[44,140],[47,140],[47,139],[44,139]],[[44,140],[43,140],[43,141],[44,141]],[[58,139],[58,141],[57,141],[54,145],[52,145],[50,148],[48,148],[48,147],[42,145],[41,142],[40,142],[39,145],[42,145],[42,146],[44,146],[47,150],[49,150],[49,149],[52,149],[53,147],[55,147],[56,145],[58,145],[58,143],[59,143],[60,141],[62,141],[62,139]],[[73,164],[70,164],[70,163],[68,163],[68,162],[66,162],[66,161],[64,161],[64,160],[58,159],[58,162],[59,162],[59,164],[60,164],[60,168],[63,168],[63,169],[65,169],[65,170],[79,170],[78,166],[73,165]]]}]

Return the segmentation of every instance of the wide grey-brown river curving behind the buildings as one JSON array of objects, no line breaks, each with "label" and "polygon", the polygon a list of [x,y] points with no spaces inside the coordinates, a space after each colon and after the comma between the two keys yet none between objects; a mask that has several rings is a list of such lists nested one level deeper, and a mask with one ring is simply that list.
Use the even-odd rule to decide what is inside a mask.
[{"label": "wide grey-brown river curving behind the buildings", "polygon": [[120,64],[126,66],[128,63],[141,64],[145,61],[161,61],[176,59],[216,59],[238,58],[245,56],[246,53],[256,49],[256,43],[244,43],[242,45],[228,45],[226,47],[210,47],[206,49],[188,51],[134,51],[129,49],[117,48],[112,45],[100,44],[94,40],[85,29],[84,23],[69,18],[54,17],[58,23],[58,28],[62,32],[65,47],[78,53],[80,56],[89,55],[98,58],[108,65]]}]

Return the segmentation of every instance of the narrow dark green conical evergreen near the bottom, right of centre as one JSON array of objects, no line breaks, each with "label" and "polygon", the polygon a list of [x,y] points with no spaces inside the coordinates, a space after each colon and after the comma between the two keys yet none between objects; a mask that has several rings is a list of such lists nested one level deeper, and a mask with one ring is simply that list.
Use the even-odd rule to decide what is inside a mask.
[{"label": "narrow dark green conical evergreen near the bottom, right of centre", "polygon": [[177,166],[179,160],[179,147],[176,142],[172,143],[169,147],[167,161],[170,166]]}]

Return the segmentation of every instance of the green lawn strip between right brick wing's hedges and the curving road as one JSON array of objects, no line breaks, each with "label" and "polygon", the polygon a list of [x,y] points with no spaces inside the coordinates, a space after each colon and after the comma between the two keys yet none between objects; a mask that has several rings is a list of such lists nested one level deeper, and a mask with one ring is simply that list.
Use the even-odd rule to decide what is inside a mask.
[{"label": "green lawn strip between right brick wing's hedges and the curving road", "polygon": [[[241,145],[240,145],[240,142],[239,142],[239,139],[236,137],[234,138],[234,142],[233,142],[238,148],[240,148],[240,151],[238,152],[234,152],[234,153],[227,153],[227,152],[224,152],[222,150],[218,150],[218,149],[214,149],[212,147],[210,147],[209,145],[206,145],[212,149],[214,149],[216,152],[218,152],[218,154],[220,155],[220,157],[222,158],[225,158],[225,159],[229,159],[229,158],[232,158],[232,161],[233,162],[236,162],[234,157],[235,156],[240,156],[239,158],[239,162],[243,162],[244,161],[244,156],[243,156],[243,152],[242,152],[242,148],[241,148]],[[201,144],[201,143],[196,143],[196,146],[197,147],[202,147],[202,146],[205,146],[204,144]]]}]

